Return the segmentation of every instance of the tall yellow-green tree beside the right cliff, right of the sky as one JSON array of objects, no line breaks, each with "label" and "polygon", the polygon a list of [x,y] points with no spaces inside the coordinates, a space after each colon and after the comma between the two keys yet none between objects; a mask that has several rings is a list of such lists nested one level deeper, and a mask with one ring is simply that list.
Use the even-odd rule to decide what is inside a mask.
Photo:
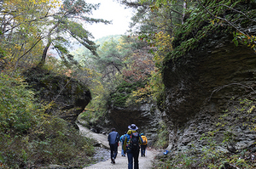
[{"label": "tall yellow-green tree beside the right cliff, right of the sky", "polygon": [[[151,98],[156,99],[164,88],[160,68],[166,54],[172,51],[173,32],[183,24],[187,2],[119,0],[119,3],[136,9],[137,13],[132,17],[131,23],[132,34],[145,43],[145,46],[147,46],[147,48],[144,48],[147,50],[145,53],[153,54],[151,59],[147,61],[147,63],[150,63],[148,65],[149,69],[143,68],[144,71],[141,71],[138,65],[132,65],[130,70],[125,70],[126,76],[133,75],[137,78],[148,78],[148,85],[135,91],[133,96],[140,98],[144,95],[143,93],[151,93]],[[186,5],[183,6],[184,4]],[[155,66],[153,66],[153,63]]]}]

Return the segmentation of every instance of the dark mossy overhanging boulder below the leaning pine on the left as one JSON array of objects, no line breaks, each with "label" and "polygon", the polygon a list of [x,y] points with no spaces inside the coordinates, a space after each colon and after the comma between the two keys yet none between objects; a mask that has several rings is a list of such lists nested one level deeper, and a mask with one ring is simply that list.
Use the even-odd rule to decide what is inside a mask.
[{"label": "dark mossy overhanging boulder below the leaning pine on the left", "polygon": [[24,76],[39,99],[46,103],[54,102],[54,106],[47,110],[49,115],[59,115],[74,123],[90,102],[89,88],[73,78],[56,75],[41,68],[26,70]]}]

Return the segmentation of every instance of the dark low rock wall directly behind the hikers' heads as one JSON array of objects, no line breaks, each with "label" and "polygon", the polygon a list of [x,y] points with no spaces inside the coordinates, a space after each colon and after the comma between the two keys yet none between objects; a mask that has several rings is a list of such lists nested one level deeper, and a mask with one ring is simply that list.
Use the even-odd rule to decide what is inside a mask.
[{"label": "dark low rock wall directly behind the hikers' heads", "polygon": [[[116,127],[119,133],[127,132],[128,126],[136,124],[139,132],[145,133],[148,144],[157,138],[160,111],[155,104],[137,104],[128,108],[113,107],[108,110],[108,126]],[[110,126],[109,126],[110,127]]]}]

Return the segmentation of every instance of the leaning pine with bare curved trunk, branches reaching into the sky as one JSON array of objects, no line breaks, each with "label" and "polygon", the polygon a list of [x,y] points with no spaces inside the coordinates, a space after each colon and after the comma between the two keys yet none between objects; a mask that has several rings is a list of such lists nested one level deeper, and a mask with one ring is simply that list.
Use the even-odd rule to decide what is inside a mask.
[{"label": "leaning pine with bare curved trunk, branches reaching into the sky", "polygon": [[[84,16],[84,14],[91,14],[93,9],[98,8],[98,5],[92,5],[85,3],[84,0],[65,0],[63,2],[63,6],[61,6],[60,12],[56,14],[53,20],[53,26],[48,31],[48,43],[46,47],[44,48],[44,53],[42,56],[42,59],[39,63],[39,66],[44,65],[45,58],[47,51],[49,49],[49,46],[54,43],[54,40],[57,41],[58,38],[55,38],[54,40],[51,38],[52,34],[60,32],[67,32],[71,37],[73,37],[75,40],[80,42],[82,45],[84,45],[85,48],[88,48],[92,54],[96,54],[96,45],[94,42],[90,41],[90,37],[92,35],[90,32],[84,30],[83,26],[81,24],[78,24],[77,22],[74,22],[73,20],[84,20],[87,23],[105,23],[108,24],[107,20],[96,20],[92,19],[90,17]],[[61,46],[62,47],[62,46]],[[58,48],[60,49],[60,48]],[[66,51],[65,51],[66,52]]]}]

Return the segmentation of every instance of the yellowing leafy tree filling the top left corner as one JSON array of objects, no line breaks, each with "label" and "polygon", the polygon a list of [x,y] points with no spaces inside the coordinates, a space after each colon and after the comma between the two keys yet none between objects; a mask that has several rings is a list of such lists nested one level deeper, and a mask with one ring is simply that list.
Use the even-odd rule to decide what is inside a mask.
[{"label": "yellowing leafy tree filling the top left corner", "polygon": [[1,7],[0,42],[9,61],[19,61],[25,55],[29,58],[32,48],[42,48],[43,21],[49,15],[48,2],[3,1]]}]

